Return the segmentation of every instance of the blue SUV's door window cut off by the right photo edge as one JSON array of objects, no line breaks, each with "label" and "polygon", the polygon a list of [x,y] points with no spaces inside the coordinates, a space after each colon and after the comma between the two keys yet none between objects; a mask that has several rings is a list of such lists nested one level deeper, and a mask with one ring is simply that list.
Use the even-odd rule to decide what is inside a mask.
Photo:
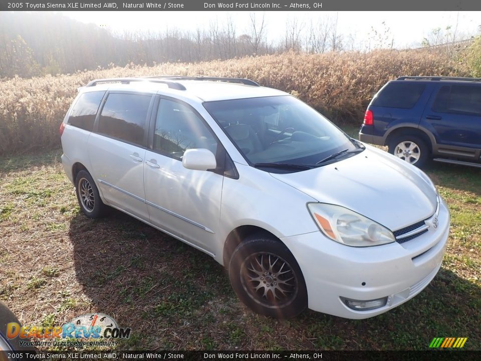
[{"label": "blue SUV's door window cut off by the right photo edge", "polygon": [[442,86],[436,95],[432,110],[439,113],[481,116],[481,87]]}]

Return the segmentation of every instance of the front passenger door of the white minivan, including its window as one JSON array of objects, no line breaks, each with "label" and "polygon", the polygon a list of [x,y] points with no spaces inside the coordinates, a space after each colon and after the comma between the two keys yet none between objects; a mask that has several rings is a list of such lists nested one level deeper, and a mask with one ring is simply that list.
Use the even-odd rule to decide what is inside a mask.
[{"label": "front passenger door of the white minivan, including its window", "polygon": [[185,150],[216,154],[218,140],[190,106],[160,99],[152,150],[144,162],[150,222],[190,245],[212,254],[218,232],[223,175],[182,166]]}]

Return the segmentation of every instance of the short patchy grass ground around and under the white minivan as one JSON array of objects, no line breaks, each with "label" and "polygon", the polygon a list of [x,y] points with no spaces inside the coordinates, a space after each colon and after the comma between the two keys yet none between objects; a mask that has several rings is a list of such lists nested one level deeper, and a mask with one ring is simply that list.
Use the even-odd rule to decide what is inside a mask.
[{"label": "short patchy grass ground around and under the white minivan", "polygon": [[0,169],[0,299],[25,324],[103,312],[132,328],[122,343],[131,349],[428,349],[448,336],[481,349],[479,169],[425,169],[451,232],[440,272],[419,295],[366,320],[306,311],[281,321],[240,303],[207,255],[117,211],[84,217],[58,150],[0,159]]}]

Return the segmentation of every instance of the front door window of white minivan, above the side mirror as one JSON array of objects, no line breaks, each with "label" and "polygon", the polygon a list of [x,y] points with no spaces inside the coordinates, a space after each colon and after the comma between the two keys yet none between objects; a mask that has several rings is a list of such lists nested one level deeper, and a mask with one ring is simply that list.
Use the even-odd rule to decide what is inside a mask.
[{"label": "front door window of white minivan, above the side mirror", "polygon": [[161,99],[155,121],[153,149],[181,158],[187,149],[205,148],[215,154],[217,140],[188,106]]}]

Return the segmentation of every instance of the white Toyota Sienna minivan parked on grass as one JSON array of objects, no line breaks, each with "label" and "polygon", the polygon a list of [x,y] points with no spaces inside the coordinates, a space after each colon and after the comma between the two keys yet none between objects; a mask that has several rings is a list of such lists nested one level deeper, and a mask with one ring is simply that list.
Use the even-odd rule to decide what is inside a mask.
[{"label": "white Toyota Sienna minivan parked on grass", "polygon": [[441,266],[449,213],[420,169],[252,80],[102,79],[60,127],[80,208],[212,256],[254,311],[367,318]]}]

